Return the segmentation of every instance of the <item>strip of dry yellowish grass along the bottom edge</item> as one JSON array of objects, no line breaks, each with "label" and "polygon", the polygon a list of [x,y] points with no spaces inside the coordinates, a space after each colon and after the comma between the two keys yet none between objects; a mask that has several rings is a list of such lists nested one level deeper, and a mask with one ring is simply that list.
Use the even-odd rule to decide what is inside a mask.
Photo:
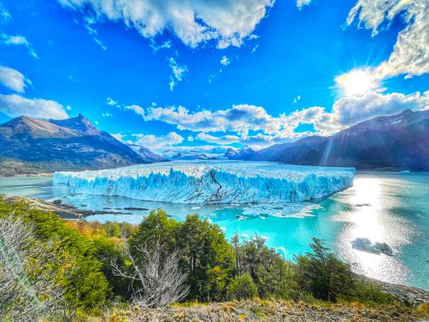
[{"label": "strip of dry yellowish grass along the bottom edge", "polygon": [[424,321],[428,304],[416,307],[380,307],[375,309],[359,302],[290,302],[253,299],[242,302],[174,304],[163,309],[131,312],[128,321]]}]

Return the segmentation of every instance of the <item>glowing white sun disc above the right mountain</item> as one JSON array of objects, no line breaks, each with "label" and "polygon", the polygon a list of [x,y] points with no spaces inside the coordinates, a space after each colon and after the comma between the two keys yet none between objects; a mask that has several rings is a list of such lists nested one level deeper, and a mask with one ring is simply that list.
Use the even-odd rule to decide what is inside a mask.
[{"label": "glowing white sun disc above the right mountain", "polygon": [[347,96],[362,95],[378,87],[374,76],[364,69],[354,69],[346,74],[336,76],[336,85],[343,88]]}]

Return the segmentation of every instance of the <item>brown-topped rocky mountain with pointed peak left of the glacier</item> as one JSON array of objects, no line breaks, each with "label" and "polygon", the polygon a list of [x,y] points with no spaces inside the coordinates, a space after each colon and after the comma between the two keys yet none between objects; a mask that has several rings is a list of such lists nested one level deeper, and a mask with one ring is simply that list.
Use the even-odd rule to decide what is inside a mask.
[{"label": "brown-topped rocky mountain with pointed peak left of the glacier", "polygon": [[0,124],[0,175],[113,168],[148,161],[81,114],[48,121],[20,116]]}]

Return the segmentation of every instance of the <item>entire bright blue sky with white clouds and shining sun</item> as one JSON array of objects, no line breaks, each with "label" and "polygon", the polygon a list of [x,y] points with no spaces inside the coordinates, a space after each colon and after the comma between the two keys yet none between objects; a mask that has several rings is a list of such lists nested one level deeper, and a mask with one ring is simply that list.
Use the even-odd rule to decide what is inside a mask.
[{"label": "entire bright blue sky with white clouds and shining sun", "polygon": [[0,122],[208,151],[427,109],[429,5],[384,2],[0,0]]}]

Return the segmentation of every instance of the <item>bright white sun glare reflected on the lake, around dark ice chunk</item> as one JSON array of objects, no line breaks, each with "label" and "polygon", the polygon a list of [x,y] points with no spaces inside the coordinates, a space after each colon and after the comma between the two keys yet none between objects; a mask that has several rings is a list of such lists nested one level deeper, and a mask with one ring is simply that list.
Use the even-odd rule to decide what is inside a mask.
[{"label": "bright white sun glare reflected on the lake, around dark ice chunk", "polygon": [[[356,271],[383,281],[404,283],[414,276],[398,255],[402,246],[409,243],[411,232],[407,222],[392,215],[390,208],[395,206],[395,201],[385,190],[386,182],[380,178],[364,177],[356,179],[348,192],[338,196],[340,202],[350,203],[352,208],[332,218],[346,222],[336,247],[339,255],[352,263]],[[362,237],[372,243],[388,243],[395,255],[378,255],[351,248],[350,242]]]}]

